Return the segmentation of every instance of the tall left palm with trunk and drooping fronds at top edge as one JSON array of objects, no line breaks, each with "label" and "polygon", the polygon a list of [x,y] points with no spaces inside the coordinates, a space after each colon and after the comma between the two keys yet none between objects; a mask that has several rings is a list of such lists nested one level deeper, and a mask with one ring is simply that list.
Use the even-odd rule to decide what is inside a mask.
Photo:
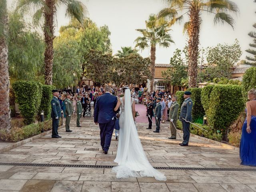
[{"label": "tall left palm with trunk and drooping fronds at top edge", "polygon": [[84,21],[87,15],[87,8],[78,0],[18,0],[17,9],[26,12],[30,8],[36,9],[33,19],[36,21],[44,18],[44,40],[46,49],[44,52],[44,80],[45,84],[52,84],[52,64],[53,64],[53,40],[54,36],[54,16],[57,8],[65,5],[66,16],[78,20],[80,23]]}]

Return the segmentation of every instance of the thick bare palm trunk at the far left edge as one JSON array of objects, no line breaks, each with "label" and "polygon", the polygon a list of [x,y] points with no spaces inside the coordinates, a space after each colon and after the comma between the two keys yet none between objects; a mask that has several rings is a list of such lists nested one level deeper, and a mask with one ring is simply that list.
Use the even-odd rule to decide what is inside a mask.
[{"label": "thick bare palm trunk at the far left edge", "polygon": [[7,25],[6,0],[0,1],[0,128],[10,130],[8,48],[6,44]]}]

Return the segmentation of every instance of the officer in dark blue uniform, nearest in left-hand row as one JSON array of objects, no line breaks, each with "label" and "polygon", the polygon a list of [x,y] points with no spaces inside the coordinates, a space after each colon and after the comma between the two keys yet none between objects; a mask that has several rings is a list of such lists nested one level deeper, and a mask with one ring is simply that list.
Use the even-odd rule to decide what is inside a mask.
[{"label": "officer in dark blue uniform, nearest in left-hand row", "polygon": [[58,90],[56,89],[52,90],[52,95],[53,95],[51,100],[52,138],[61,138],[61,136],[58,135],[59,118],[61,116],[60,102],[58,100],[58,96],[59,96]]}]

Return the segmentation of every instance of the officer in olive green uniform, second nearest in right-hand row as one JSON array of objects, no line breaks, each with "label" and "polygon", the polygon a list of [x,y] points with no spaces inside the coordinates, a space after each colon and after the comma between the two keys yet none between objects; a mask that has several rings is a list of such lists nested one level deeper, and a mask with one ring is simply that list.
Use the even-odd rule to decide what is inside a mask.
[{"label": "officer in olive green uniform, second nearest in right-hand row", "polygon": [[[170,118],[170,126],[171,126],[171,134],[172,136],[168,139],[176,139],[176,127],[178,120],[178,110],[180,106],[177,102],[177,96],[172,96],[172,104],[170,106],[169,118]],[[175,126],[175,127],[174,127]]]}]

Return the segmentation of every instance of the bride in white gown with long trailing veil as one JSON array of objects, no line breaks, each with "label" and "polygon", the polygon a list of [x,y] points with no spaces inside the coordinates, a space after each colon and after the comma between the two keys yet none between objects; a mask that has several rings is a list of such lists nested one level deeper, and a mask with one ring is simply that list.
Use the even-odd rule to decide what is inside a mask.
[{"label": "bride in white gown with long trailing veil", "polygon": [[114,162],[118,166],[112,168],[116,172],[116,178],[128,177],[154,177],[156,180],[165,181],[166,176],[155,170],[148,162],[146,154],[140,143],[138,132],[134,123],[135,103],[131,98],[128,86],[122,88],[124,97],[120,98],[114,108],[115,111],[121,106],[119,118],[120,133],[118,149]]}]

